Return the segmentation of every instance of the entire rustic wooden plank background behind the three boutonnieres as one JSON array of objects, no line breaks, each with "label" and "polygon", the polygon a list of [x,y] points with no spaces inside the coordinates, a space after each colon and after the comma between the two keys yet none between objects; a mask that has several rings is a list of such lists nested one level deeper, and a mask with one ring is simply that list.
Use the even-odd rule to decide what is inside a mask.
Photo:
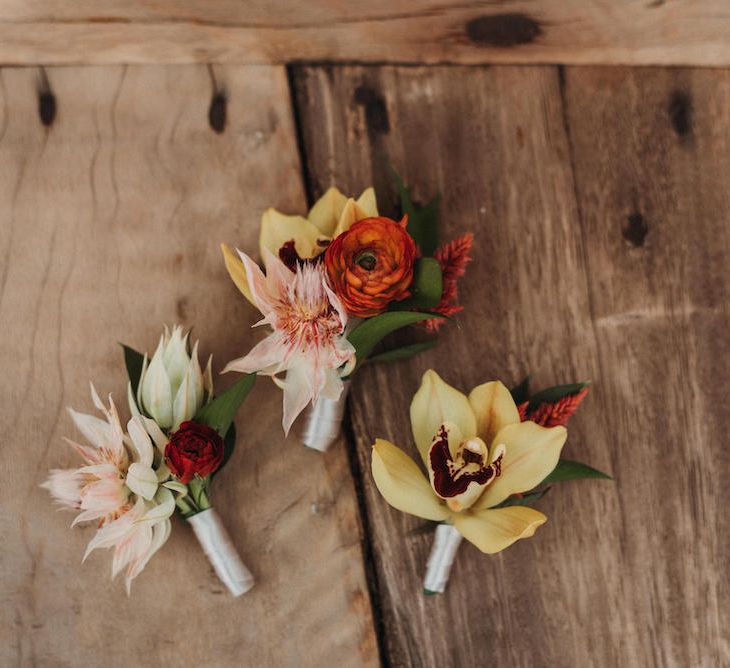
[{"label": "entire rustic wooden plank background behind the three boutonnieres", "polygon": [[[728,21],[720,0],[3,3],[0,665],[730,666],[730,72],[620,65],[730,65]],[[377,64],[290,62],[319,59]],[[412,64],[501,62],[532,64]],[[64,407],[90,410],[91,379],[126,414],[116,341],[163,323],[217,369],[248,350],[219,242],[255,248],[264,208],[331,184],[393,212],[389,162],[443,193],[446,238],[474,231],[466,311],[362,370],[324,456],[259,381],[214,489],[257,586],[229,598],[178,521],[127,598],[38,487],[74,461]],[[566,454],[616,477],[555,488],[499,555],[464,543],[436,597],[430,536],[369,473],[376,436],[415,453],[429,367],[593,379]]]}]

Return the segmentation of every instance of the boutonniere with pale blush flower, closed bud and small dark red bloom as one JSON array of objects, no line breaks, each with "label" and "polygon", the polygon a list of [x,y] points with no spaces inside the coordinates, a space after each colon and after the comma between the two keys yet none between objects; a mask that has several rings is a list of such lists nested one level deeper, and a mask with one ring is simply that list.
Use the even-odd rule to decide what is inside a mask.
[{"label": "boutonniere with pale blush flower, closed bud and small dark red bloom", "polygon": [[43,487],[62,507],[81,511],[71,526],[98,523],[84,560],[97,548],[112,548],[112,577],[126,569],[127,592],[170,536],[177,507],[219,577],[238,596],[253,586],[253,578],[209,493],[212,477],[233,451],[233,417],[255,376],[214,397],[212,357],[203,372],[198,342],[191,352],[188,339],[182,328],[166,328],[149,360],[124,346],[132,414],[126,430],[111,395],[107,407],[92,384],[93,404],[104,419],[69,409],[86,442],[66,439],[84,465],[52,470]]}]

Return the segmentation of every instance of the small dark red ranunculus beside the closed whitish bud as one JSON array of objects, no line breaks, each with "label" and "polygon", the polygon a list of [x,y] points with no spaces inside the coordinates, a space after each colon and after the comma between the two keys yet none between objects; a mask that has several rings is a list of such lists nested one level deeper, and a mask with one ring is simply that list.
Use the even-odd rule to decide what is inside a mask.
[{"label": "small dark red ranunculus beside the closed whitish bud", "polygon": [[165,446],[165,461],[173,475],[187,485],[197,473],[205,478],[223,462],[225,446],[218,432],[200,422],[183,422]]}]

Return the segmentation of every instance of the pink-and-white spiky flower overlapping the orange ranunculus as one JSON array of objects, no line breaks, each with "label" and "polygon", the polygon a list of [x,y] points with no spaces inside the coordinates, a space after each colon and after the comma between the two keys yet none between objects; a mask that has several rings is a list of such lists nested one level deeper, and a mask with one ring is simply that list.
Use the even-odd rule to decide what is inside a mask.
[{"label": "pink-and-white spiky flower overlapping the orange ranunculus", "polygon": [[[321,264],[299,264],[296,271],[265,251],[266,274],[238,251],[251,296],[273,332],[226,371],[272,376],[284,390],[284,431],[289,432],[306,405],[322,396],[337,399],[343,388],[341,367],[355,349],[345,338],[347,313],[327,284]],[[283,379],[276,375],[286,372]]]}]

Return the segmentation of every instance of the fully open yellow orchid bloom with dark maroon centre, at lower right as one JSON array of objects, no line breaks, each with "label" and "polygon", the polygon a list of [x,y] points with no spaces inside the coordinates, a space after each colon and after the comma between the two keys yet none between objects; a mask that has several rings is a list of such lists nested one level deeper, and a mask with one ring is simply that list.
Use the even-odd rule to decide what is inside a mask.
[{"label": "fully open yellow orchid bloom with dark maroon centre, at lower right", "polygon": [[552,472],[568,432],[520,422],[502,383],[484,383],[467,397],[426,371],[411,403],[411,426],[428,478],[397,446],[381,439],[373,445],[375,484],[391,506],[453,524],[488,554],[529,538],[547,520],[527,506],[495,506]]}]

